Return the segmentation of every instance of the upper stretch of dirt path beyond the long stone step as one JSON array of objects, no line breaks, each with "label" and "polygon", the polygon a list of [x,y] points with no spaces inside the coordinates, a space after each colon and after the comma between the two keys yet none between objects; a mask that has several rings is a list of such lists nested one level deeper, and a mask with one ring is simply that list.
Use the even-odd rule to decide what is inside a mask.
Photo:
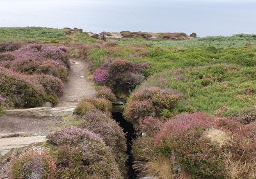
[{"label": "upper stretch of dirt path beyond the long stone step", "polygon": [[86,62],[77,59],[71,59],[71,62],[69,81],[65,93],[56,107],[76,106],[83,98],[95,96],[93,82],[89,82],[85,78],[85,72],[88,69]]}]

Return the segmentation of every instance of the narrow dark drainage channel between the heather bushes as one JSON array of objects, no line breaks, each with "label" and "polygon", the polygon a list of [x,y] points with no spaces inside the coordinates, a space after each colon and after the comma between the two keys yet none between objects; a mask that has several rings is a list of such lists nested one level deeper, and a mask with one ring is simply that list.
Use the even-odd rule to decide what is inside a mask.
[{"label": "narrow dark drainage channel between the heather bushes", "polygon": [[132,123],[129,123],[128,121],[126,121],[122,115],[122,113],[112,113],[112,118],[119,123],[120,127],[123,128],[124,132],[127,133],[127,155],[129,156],[127,162],[126,162],[126,166],[127,166],[127,170],[128,170],[128,178],[129,179],[136,179],[136,172],[134,171],[134,169],[132,169],[132,161],[133,161],[133,157],[132,157],[132,139],[136,139],[136,135],[134,132],[134,128]]}]

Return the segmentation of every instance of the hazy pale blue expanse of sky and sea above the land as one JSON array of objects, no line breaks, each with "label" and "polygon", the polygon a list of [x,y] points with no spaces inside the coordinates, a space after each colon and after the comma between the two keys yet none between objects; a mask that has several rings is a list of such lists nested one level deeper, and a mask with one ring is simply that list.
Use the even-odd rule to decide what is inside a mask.
[{"label": "hazy pale blue expanse of sky and sea above the land", "polygon": [[256,33],[256,0],[0,0],[0,26]]}]

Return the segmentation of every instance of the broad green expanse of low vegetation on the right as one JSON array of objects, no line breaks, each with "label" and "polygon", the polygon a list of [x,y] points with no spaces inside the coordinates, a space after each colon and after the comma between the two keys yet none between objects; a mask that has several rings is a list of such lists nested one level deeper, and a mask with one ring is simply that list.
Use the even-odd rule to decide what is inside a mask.
[{"label": "broad green expanse of low vegetation on the right", "polygon": [[[136,90],[160,86],[184,94],[180,113],[204,111],[223,116],[256,105],[256,36],[207,37],[184,41],[124,39],[115,47],[93,49],[89,60],[98,68],[105,59],[149,62],[147,81]],[[203,45],[203,46],[202,46]]]}]

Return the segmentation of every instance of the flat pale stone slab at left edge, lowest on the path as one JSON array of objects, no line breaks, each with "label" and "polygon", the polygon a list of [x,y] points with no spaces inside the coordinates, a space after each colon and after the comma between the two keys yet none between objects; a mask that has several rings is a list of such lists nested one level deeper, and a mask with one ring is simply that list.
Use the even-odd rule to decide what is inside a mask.
[{"label": "flat pale stone slab at left edge, lowest on the path", "polygon": [[0,139],[0,159],[8,159],[19,155],[35,143],[44,142],[45,136],[11,137]]}]

